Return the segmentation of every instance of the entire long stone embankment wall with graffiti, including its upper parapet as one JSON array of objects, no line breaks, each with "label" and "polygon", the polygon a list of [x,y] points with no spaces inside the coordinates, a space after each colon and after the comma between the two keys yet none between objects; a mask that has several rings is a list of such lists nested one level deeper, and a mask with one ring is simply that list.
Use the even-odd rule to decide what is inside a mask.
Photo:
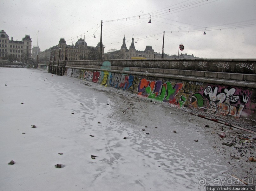
[{"label": "entire long stone embankment wall with graffiti, including its upper parapet", "polygon": [[255,126],[256,59],[60,61],[38,68]]}]

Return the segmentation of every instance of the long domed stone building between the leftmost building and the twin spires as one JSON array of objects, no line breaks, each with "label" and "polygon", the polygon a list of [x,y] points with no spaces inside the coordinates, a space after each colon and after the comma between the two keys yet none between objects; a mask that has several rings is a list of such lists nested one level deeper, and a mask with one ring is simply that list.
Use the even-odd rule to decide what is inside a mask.
[{"label": "long domed stone building between the leftmost building and the twin spires", "polygon": [[[66,47],[67,46],[67,47]],[[67,49],[67,60],[95,60],[99,59],[100,43],[96,47],[88,46],[84,39],[78,39],[75,45],[67,45],[64,38],[61,38],[58,45],[40,52],[41,61],[65,60]],[[104,46],[102,45],[102,55]],[[50,58],[51,57],[51,58]]]}]

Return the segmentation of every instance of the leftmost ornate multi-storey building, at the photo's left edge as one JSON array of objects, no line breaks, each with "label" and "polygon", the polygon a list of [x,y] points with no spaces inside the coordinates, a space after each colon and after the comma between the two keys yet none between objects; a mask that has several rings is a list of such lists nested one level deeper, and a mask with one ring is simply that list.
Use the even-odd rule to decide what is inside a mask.
[{"label": "leftmost ornate multi-storey building, at the photo's left edge", "polygon": [[30,35],[25,35],[21,41],[9,40],[9,36],[4,30],[0,31],[0,59],[5,59],[12,56],[14,60],[24,61],[31,57],[32,39]]}]

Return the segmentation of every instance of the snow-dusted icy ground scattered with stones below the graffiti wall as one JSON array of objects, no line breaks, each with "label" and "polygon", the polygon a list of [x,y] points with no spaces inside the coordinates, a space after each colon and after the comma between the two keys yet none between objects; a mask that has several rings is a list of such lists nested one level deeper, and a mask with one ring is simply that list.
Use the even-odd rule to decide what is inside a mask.
[{"label": "snow-dusted icy ground scattered with stones below the graffiti wall", "polygon": [[0,68],[0,98],[0,190],[205,190],[231,174],[255,185],[255,141],[240,153],[218,133],[255,134],[37,69]]}]

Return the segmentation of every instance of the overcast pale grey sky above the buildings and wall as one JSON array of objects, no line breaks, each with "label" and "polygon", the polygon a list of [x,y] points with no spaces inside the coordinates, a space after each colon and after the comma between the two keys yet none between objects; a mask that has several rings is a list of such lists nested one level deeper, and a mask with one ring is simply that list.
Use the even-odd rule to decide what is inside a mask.
[{"label": "overcast pale grey sky above the buildings and wall", "polygon": [[41,51],[84,35],[96,46],[103,20],[104,52],[119,50],[124,35],[127,48],[134,36],[136,50],[162,52],[165,31],[166,54],[177,55],[182,43],[180,53],[196,57],[256,58],[256,0],[0,0],[0,7],[0,29],[14,40],[29,34],[32,46],[38,30]]}]

